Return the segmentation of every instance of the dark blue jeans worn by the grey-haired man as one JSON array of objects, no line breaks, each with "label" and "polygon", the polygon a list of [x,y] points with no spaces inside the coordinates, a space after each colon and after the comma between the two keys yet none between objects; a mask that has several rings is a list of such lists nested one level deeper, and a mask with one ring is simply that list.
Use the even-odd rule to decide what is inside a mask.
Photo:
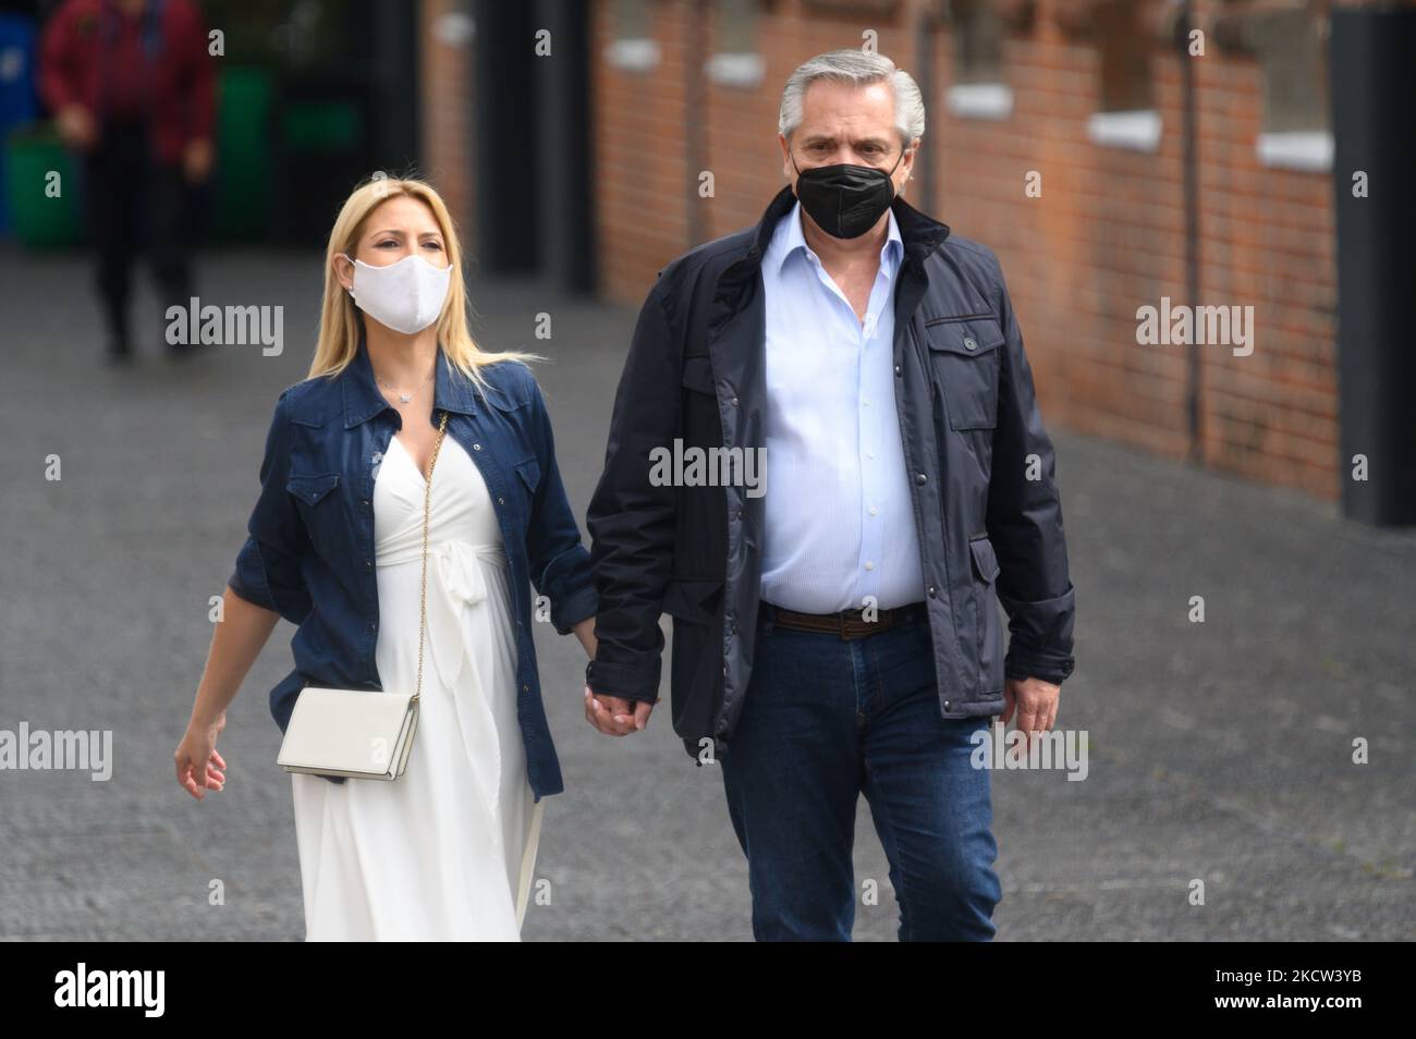
[{"label": "dark blue jeans worn by the grey-haired man", "polygon": [[722,779],[748,856],[759,941],[850,941],[851,846],[864,793],[889,859],[901,941],[990,940],[988,770],[970,736],[991,719],[939,716],[929,619],[867,638],[793,631],[762,604],[746,701]]}]

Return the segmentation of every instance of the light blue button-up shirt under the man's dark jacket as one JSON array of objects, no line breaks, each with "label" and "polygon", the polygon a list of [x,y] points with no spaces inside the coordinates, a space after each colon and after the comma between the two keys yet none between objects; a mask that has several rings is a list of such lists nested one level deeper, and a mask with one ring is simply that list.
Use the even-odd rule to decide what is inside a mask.
[{"label": "light blue button-up shirt under the man's dark jacket", "polygon": [[762,262],[766,292],[766,544],[762,597],[801,613],[888,610],[925,597],[895,411],[889,214],[865,320],[801,232],[801,204]]}]

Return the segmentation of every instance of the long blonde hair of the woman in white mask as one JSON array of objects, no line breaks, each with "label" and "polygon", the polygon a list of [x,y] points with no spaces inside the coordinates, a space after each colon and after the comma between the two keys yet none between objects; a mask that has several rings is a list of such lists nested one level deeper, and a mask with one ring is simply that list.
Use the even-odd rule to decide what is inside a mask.
[{"label": "long blonde hair of the woman in white mask", "polygon": [[353,297],[334,275],[334,256],[346,253],[353,258],[364,222],[381,204],[399,195],[416,198],[432,209],[433,219],[442,232],[452,277],[447,299],[438,317],[438,343],[443,354],[463,375],[479,386],[486,386],[481,367],[498,361],[544,361],[539,354],[506,350],[490,354],[481,350],[467,330],[467,293],[462,280],[462,246],[457,242],[457,226],[453,224],[442,195],[432,184],[413,177],[375,176],[354,188],[344,200],[340,215],[330,231],[330,243],[324,251],[324,302],[320,306],[320,334],[314,345],[314,360],[310,362],[309,378],[317,375],[338,375],[358,352],[360,316]]}]

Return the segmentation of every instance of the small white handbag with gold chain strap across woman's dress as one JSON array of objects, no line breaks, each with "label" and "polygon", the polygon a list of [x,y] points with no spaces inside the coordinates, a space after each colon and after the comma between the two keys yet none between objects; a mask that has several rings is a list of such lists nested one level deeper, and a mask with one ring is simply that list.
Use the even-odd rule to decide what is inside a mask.
[{"label": "small white handbag with gold chain strap across woman's dress", "polygon": [[423,491],[422,616],[418,621],[418,688],[412,692],[327,689],[307,685],[290,712],[276,762],[286,771],[347,779],[395,780],[404,774],[418,732],[418,701],[423,691],[423,637],[428,631],[428,522],[432,512],[433,466],[447,429],[443,412],[428,460]]}]

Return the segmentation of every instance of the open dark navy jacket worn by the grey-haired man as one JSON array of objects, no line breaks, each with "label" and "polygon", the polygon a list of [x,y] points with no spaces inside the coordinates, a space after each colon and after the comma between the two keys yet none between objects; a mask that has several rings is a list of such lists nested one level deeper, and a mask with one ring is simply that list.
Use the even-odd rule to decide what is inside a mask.
[{"label": "open dark navy jacket worn by the grey-haired man", "polygon": [[[634,328],[590,503],[603,695],[653,701],[674,619],[674,730],[690,754],[729,752],[752,674],[765,503],[731,486],[660,486],[654,449],[765,447],[760,263],[796,201],[658,272]],[[939,712],[1004,708],[1004,675],[1062,682],[1073,667],[1072,582],[1052,442],[997,256],[896,197],[895,401],[910,478]],[[712,457],[708,454],[708,457]],[[843,503],[850,504],[850,503]],[[994,595],[1008,613],[1008,647]]]}]

